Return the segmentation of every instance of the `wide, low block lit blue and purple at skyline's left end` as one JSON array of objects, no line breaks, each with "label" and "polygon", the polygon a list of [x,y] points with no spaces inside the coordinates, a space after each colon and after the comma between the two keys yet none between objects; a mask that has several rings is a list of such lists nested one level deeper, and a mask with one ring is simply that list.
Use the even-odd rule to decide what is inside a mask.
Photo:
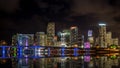
[{"label": "wide, low block lit blue and purple at skyline's left end", "polygon": [[13,46],[28,46],[33,45],[34,34],[17,34],[12,36]]}]

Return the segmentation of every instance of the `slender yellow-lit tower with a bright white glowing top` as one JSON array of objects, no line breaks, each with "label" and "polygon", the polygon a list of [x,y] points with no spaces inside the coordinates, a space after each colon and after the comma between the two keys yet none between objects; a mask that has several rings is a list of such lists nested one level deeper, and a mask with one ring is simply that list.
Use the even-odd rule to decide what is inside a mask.
[{"label": "slender yellow-lit tower with a bright white glowing top", "polygon": [[102,48],[107,47],[107,43],[106,43],[106,24],[99,24],[99,45]]}]

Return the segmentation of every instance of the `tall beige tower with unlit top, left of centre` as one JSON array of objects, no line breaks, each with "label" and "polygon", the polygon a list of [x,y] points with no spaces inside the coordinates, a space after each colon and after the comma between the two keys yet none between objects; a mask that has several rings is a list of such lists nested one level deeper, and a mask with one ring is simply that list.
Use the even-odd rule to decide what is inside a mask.
[{"label": "tall beige tower with unlit top, left of centre", "polygon": [[47,45],[48,46],[54,45],[54,40],[53,40],[54,36],[55,36],[55,23],[50,22],[48,23],[48,26],[47,26]]}]

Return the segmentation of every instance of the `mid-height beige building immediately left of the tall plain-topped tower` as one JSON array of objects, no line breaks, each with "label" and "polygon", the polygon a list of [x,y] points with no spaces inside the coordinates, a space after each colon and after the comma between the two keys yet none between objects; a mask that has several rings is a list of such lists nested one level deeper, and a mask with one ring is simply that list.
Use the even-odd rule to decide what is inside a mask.
[{"label": "mid-height beige building immediately left of the tall plain-topped tower", "polygon": [[47,35],[44,32],[37,32],[35,34],[36,45],[46,46],[47,45]]}]

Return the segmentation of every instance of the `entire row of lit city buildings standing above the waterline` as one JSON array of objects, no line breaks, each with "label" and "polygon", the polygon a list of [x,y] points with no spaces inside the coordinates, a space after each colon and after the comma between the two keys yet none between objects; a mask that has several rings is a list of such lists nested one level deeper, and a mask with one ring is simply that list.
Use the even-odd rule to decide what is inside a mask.
[{"label": "entire row of lit city buildings standing above the waterline", "polygon": [[[57,34],[57,35],[56,35]],[[12,46],[55,46],[55,47],[81,47],[90,48],[99,45],[107,48],[110,45],[118,45],[118,38],[112,38],[112,33],[107,32],[106,24],[99,24],[98,37],[93,36],[93,30],[88,30],[88,37],[80,34],[77,26],[63,29],[55,33],[55,23],[47,25],[46,32],[36,32],[35,34],[16,34],[12,36]]]}]

